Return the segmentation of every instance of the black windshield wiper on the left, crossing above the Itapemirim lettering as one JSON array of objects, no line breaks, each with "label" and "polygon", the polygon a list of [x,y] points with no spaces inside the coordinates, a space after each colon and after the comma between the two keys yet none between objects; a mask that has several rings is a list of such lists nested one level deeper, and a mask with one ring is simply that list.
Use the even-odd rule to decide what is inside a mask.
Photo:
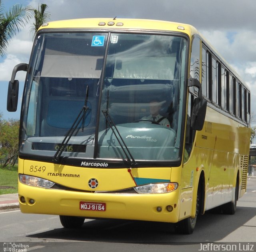
[{"label": "black windshield wiper on the left, crossing above the Itapemirim lettering", "polygon": [[[54,162],[59,162],[60,160],[60,156],[62,154],[62,152],[66,149],[68,142],[70,140],[70,138],[72,137],[72,135],[74,134],[75,130],[77,129],[78,125],[80,124],[80,122],[82,121],[82,131],[84,131],[84,121],[85,121],[85,116],[86,116],[86,112],[88,111],[89,107],[87,106],[87,100],[88,100],[88,90],[89,87],[87,85],[86,87],[86,94],[85,94],[85,99],[84,99],[84,106],[82,107],[82,109],[80,110],[78,116],[76,117],[76,120],[74,120],[71,128],[68,130],[68,132],[66,133],[62,143],[60,144],[60,148],[58,148],[58,150],[56,151],[54,157],[52,158],[52,160]],[[82,115],[82,116],[81,116]]]}]

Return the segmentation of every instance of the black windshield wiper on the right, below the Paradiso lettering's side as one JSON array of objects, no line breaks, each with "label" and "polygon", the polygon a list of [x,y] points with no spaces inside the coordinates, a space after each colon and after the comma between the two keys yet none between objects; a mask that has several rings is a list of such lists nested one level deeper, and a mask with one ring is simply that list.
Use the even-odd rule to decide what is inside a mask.
[{"label": "black windshield wiper on the right, below the Paradiso lettering's side", "polygon": [[[108,110],[102,110],[102,113],[104,114],[105,118],[106,118],[106,121],[108,122],[112,132],[114,133],[119,145],[121,146],[123,152],[124,152],[124,155],[126,156],[126,159],[124,159],[126,162],[128,162],[128,164],[130,165],[130,168],[133,168],[133,167],[136,167],[137,166],[137,163],[136,161],[134,160],[130,150],[128,149],[126,143],[124,142],[124,139],[122,138],[120,132],[118,131],[118,128],[116,127],[116,124],[114,123],[114,121],[112,120],[112,118],[110,117],[109,113],[108,113]],[[116,130],[116,132],[115,132]],[[117,134],[118,136],[117,136]],[[122,141],[122,143],[121,143]],[[130,158],[129,158],[130,156]]]}]

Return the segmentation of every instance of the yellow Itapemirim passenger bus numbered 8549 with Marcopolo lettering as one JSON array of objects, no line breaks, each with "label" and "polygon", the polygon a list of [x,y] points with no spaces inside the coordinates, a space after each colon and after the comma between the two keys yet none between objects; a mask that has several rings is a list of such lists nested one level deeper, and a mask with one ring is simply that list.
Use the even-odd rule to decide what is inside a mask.
[{"label": "yellow Itapemirim passenger bus numbered 8549 with Marcopolo lettering", "polygon": [[250,90],[187,24],[90,18],[43,24],[15,66],[23,213],[175,223],[193,232],[246,190]]}]

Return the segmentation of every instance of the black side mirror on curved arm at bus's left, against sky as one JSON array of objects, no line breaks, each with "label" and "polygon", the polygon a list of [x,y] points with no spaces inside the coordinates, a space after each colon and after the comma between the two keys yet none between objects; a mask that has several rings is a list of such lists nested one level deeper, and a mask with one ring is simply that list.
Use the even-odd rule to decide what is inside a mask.
[{"label": "black side mirror on curved arm at bus's left, against sky", "polygon": [[7,95],[7,110],[9,112],[15,112],[18,105],[18,94],[19,94],[19,81],[15,80],[16,73],[18,71],[27,71],[28,64],[20,63],[14,66],[12,70],[12,78],[9,81],[8,95]]}]

